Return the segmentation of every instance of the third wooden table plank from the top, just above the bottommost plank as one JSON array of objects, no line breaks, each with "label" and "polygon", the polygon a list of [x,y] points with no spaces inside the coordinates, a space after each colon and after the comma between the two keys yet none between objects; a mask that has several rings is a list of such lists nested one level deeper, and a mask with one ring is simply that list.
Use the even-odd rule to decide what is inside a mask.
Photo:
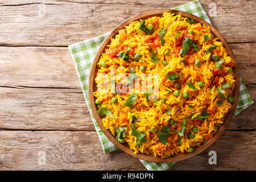
[{"label": "third wooden table plank from the top, just above the bottommost plank", "polygon": [[[247,86],[256,100],[256,86]],[[81,90],[0,87],[0,129],[95,131]],[[228,130],[255,130],[256,105],[232,119]],[[246,116],[246,117],[245,117]]]}]

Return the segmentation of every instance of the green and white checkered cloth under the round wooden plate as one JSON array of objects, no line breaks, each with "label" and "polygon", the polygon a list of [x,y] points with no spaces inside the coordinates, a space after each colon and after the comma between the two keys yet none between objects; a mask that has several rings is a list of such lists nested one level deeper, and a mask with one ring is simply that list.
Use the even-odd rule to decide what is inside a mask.
[{"label": "green and white checkered cloth under the round wooden plate", "polygon": [[[210,23],[210,19],[208,18],[207,13],[205,13],[203,7],[201,6],[198,0],[189,2],[185,5],[175,7],[174,10],[186,11],[193,15],[199,16],[200,18]],[[96,55],[98,48],[100,48],[100,45],[103,42],[103,40],[108,35],[109,35],[109,32],[102,36],[98,36],[97,38],[84,40],[82,42],[69,46],[69,51],[71,52],[72,59],[75,63],[77,75],[79,77],[79,81],[82,86],[82,92],[84,93],[84,97],[88,105],[88,109],[90,111],[90,114],[92,115],[93,124],[96,128],[98,136],[100,137],[101,145],[105,153],[116,150],[118,149],[118,147],[116,147],[112,142],[110,142],[108,138],[106,138],[106,136],[101,131],[100,127],[98,126],[98,123],[96,122],[96,119],[92,114],[92,108],[89,102],[88,78],[89,78],[90,68],[92,67],[94,56]],[[245,84],[243,83],[241,78],[240,78],[240,81],[241,81],[240,97],[239,97],[237,109],[234,115],[237,115],[243,109],[253,104],[253,100],[251,99],[248,93],[248,90],[246,89]],[[145,160],[141,160],[141,162],[148,170],[153,170],[153,171],[157,171],[157,170],[164,171],[169,169],[175,164],[175,163],[154,163],[154,162],[147,162]]]}]

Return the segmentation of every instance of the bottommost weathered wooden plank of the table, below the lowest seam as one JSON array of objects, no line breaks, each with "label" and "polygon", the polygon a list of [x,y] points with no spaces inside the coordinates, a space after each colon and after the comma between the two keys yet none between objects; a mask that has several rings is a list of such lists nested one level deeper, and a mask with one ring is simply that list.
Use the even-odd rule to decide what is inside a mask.
[{"label": "bottommost weathered wooden plank of the table, below the lowest seam", "polygon": [[[255,134],[225,131],[213,146],[171,170],[255,170]],[[104,154],[94,131],[0,131],[0,138],[1,170],[146,170],[121,150]],[[217,165],[208,163],[212,150]],[[43,154],[45,164],[40,160]]]}]

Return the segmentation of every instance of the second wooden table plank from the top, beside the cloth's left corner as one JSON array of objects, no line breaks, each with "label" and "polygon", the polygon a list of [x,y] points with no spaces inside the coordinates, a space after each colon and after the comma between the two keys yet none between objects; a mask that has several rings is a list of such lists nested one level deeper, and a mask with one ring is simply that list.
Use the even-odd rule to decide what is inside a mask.
[{"label": "second wooden table plank from the top, beside the cloth's left corner", "polygon": [[[245,84],[256,84],[256,43],[230,44]],[[0,47],[0,86],[80,89],[68,48]]]}]

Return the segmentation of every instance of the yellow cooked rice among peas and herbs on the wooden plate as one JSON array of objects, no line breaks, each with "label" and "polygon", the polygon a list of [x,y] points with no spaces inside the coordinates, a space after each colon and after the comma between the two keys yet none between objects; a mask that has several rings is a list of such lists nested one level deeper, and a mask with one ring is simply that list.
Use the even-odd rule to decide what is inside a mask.
[{"label": "yellow cooked rice among peas and herbs on the wooden plate", "polygon": [[[113,135],[116,135],[114,128],[119,126],[127,126],[125,131],[125,142],[129,144],[130,149],[134,153],[141,152],[143,154],[154,154],[155,156],[161,156],[166,158],[171,155],[175,155],[178,152],[187,152],[189,147],[200,146],[204,142],[205,135],[212,133],[213,135],[217,131],[217,127],[220,127],[224,121],[225,114],[228,113],[232,105],[227,101],[221,100],[219,97],[219,92],[216,89],[217,86],[212,85],[211,79],[213,76],[214,65],[217,61],[210,60],[210,53],[207,54],[205,51],[212,46],[217,45],[220,51],[220,58],[225,59],[225,63],[222,64],[222,69],[224,75],[220,76],[218,79],[217,85],[221,85],[229,82],[231,85],[229,88],[225,88],[224,96],[227,98],[232,95],[234,89],[234,72],[228,71],[229,67],[226,64],[229,64],[232,61],[231,57],[228,55],[228,52],[223,47],[222,43],[218,41],[217,38],[214,38],[212,32],[210,32],[209,27],[203,26],[201,29],[195,29],[196,24],[189,24],[187,18],[183,18],[180,15],[174,15],[170,13],[164,13],[162,17],[154,16],[152,18],[146,19],[146,26],[148,24],[154,25],[154,32],[159,32],[163,28],[163,25],[167,28],[166,35],[164,36],[164,46],[160,43],[159,47],[154,49],[154,52],[159,57],[159,63],[152,63],[150,60],[152,50],[148,50],[148,44],[144,42],[146,38],[145,32],[142,30],[139,31],[139,21],[131,22],[129,26],[126,26],[125,34],[123,31],[119,31],[118,38],[112,38],[109,48],[106,49],[115,49],[121,45],[130,45],[134,49],[135,53],[140,53],[141,59],[134,61],[133,56],[130,56],[129,63],[126,63],[119,57],[110,57],[107,53],[102,53],[100,61],[97,63],[100,66],[98,69],[97,77],[95,79],[96,84],[104,81],[105,78],[100,76],[100,73],[105,73],[110,78],[110,69],[115,69],[119,73],[124,73],[128,76],[130,73],[131,65],[135,68],[136,73],[142,73],[140,71],[141,65],[145,67],[143,73],[158,73],[159,74],[159,94],[156,100],[146,101],[144,93],[137,93],[137,99],[132,108],[127,107],[124,103],[127,101],[129,94],[113,94],[113,93],[102,93],[99,90],[94,92],[94,96],[102,102],[98,107],[107,107],[113,115],[113,118],[105,116],[102,118],[103,125],[108,129]],[[169,26],[168,26],[169,25]],[[197,68],[195,64],[186,63],[186,57],[175,53],[174,43],[175,36],[177,35],[177,30],[180,30],[180,27],[185,27],[184,30],[181,30],[180,36],[187,34],[187,31],[191,28],[193,29],[193,38],[195,42],[201,47],[199,51],[193,52],[193,57],[201,61],[200,68]],[[207,35],[210,38],[210,43],[205,42],[203,35]],[[193,49],[193,48],[190,48]],[[164,52],[170,51],[169,55],[165,55]],[[111,61],[110,61],[111,60]],[[167,65],[164,66],[163,61],[167,61]],[[101,67],[101,62],[104,61],[108,66]],[[201,76],[204,78],[204,87],[200,87],[198,84],[199,78],[190,76],[187,82],[192,82],[196,88],[197,92],[190,88],[188,85],[180,85],[180,94],[178,97],[174,96],[174,91],[177,90],[174,86],[169,88],[163,84],[166,75],[168,73],[184,73],[184,77],[188,75]],[[117,81],[118,82],[118,81]],[[116,83],[117,83],[116,82]],[[152,85],[154,86],[154,85]],[[210,90],[211,89],[211,92]],[[183,93],[189,93],[188,98],[183,97]],[[117,103],[113,104],[111,98],[117,98]],[[166,102],[162,104],[159,100],[164,99]],[[152,102],[158,101],[157,106],[153,106]],[[217,105],[218,101],[222,101],[223,105]],[[188,107],[192,105],[192,109]],[[195,124],[193,118],[196,118],[198,115],[201,115],[202,111],[210,107],[214,109],[213,114],[209,114],[207,119],[201,120],[200,124]],[[171,110],[171,115],[166,114],[167,110]],[[127,115],[126,123],[119,123],[118,117],[121,114]],[[192,119],[191,114],[193,115]],[[132,135],[131,125],[132,119],[131,115],[135,115],[137,118],[141,118],[141,121],[135,122],[135,127],[138,131],[145,133],[146,142],[142,142],[139,146],[137,144],[137,138]],[[163,126],[168,126],[171,129],[177,129],[184,122],[185,118],[189,119],[186,123],[187,129],[184,131],[184,137],[180,137],[178,134],[170,133],[170,138],[167,139],[165,144],[159,142],[158,133],[151,132],[150,130],[158,129],[158,132],[162,130]],[[170,126],[169,121],[173,119],[175,124]],[[193,127],[197,127],[198,132],[194,133],[192,131]],[[188,134],[193,134],[194,138],[188,138]],[[177,142],[181,139],[182,144]]]}]

